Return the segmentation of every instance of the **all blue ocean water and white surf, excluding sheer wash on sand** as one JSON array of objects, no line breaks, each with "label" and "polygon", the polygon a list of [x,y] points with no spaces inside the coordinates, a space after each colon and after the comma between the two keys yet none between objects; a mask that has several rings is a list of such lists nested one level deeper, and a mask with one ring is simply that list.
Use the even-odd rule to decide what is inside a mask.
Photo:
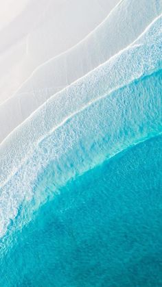
[{"label": "all blue ocean water and white surf, excluding sheer wash on sand", "polygon": [[6,142],[0,286],[162,286],[161,27]]}]

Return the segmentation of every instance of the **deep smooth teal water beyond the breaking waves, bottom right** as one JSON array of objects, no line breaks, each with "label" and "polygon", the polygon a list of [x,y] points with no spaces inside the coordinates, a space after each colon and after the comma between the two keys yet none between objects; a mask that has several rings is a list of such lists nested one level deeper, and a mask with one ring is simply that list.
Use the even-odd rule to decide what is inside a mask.
[{"label": "deep smooth teal water beyond the breaking waves, bottom right", "polygon": [[1,257],[1,286],[161,286],[162,136],[71,180]]}]

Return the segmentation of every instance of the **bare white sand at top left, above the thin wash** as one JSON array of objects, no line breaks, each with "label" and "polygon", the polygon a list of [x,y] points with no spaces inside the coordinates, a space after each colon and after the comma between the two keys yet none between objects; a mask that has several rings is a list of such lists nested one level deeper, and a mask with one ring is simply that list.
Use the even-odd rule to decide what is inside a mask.
[{"label": "bare white sand at top left, above the thin wash", "polygon": [[[10,10],[12,6],[14,1]],[[111,8],[111,1],[106,0],[28,0],[19,15],[0,30],[0,103],[38,65],[82,40]]]}]

